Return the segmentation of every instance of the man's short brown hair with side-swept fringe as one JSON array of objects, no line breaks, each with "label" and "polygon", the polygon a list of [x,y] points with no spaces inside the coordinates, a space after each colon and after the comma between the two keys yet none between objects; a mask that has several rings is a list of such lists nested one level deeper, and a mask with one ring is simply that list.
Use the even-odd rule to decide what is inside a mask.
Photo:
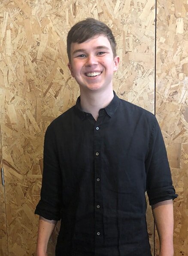
[{"label": "man's short brown hair with side-swept fringe", "polygon": [[109,43],[112,47],[113,56],[115,58],[115,56],[117,55],[116,43],[115,43],[115,38],[112,34],[111,29],[103,22],[100,22],[93,18],[87,18],[83,21],[76,23],[70,29],[67,35],[67,54],[68,54],[69,61],[71,61],[71,56],[70,56],[71,43],[83,43],[86,40],[96,35],[104,35],[108,38]]}]

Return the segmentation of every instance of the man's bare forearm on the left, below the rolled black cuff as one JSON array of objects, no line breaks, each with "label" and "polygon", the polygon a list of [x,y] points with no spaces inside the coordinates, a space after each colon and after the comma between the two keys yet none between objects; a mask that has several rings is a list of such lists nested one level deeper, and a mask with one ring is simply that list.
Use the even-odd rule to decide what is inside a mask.
[{"label": "man's bare forearm on the left, below the rolled black cuff", "polygon": [[55,228],[57,221],[39,217],[38,237],[36,244],[36,256],[47,256],[49,238]]}]

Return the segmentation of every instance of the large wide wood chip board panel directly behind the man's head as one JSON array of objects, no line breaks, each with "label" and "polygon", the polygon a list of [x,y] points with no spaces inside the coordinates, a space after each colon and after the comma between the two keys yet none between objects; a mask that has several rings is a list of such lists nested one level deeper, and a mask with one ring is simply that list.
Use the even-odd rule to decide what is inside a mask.
[{"label": "large wide wood chip board panel directly behind the man's head", "polygon": [[[121,59],[114,89],[154,109],[154,0],[4,0],[0,4],[0,88],[9,255],[33,255],[44,133],[79,96],[67,68],[66,37],[86,17],[106,22]],[[153,241],[153,220],[148,214]],[[54,255],[55,234],[49,244]]]}]

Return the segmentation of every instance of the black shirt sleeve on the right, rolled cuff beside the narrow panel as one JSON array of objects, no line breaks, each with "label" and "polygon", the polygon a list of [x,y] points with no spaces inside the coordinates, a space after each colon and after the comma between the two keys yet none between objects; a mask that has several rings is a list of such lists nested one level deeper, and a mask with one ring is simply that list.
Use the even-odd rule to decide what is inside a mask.
[{"label": "black shirt sleeve on the right, rolled cuff beside the narrow panel", "polygon": [[175,189],[172,184],[167,151],[159,124],[154,119],[154,125],[149,141],[149,152],[146,158],[147,182],[146,190],[149,204],[175,199]]}]

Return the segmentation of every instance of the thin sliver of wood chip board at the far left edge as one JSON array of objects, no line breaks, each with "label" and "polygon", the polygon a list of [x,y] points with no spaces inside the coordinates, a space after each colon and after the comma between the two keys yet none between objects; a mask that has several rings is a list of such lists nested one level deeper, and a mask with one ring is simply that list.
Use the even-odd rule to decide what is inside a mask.
[{"label": "thin sliver of wood chip board at the far left edge", "polygon": [[[3,163],[2,163],[2,150],[1,150],[1,126],[0,126],[0,170],[2,167],[3,167]],[[0,255],[8,256],[5,193],[4,193],[1,171],[0,171]]]}]

